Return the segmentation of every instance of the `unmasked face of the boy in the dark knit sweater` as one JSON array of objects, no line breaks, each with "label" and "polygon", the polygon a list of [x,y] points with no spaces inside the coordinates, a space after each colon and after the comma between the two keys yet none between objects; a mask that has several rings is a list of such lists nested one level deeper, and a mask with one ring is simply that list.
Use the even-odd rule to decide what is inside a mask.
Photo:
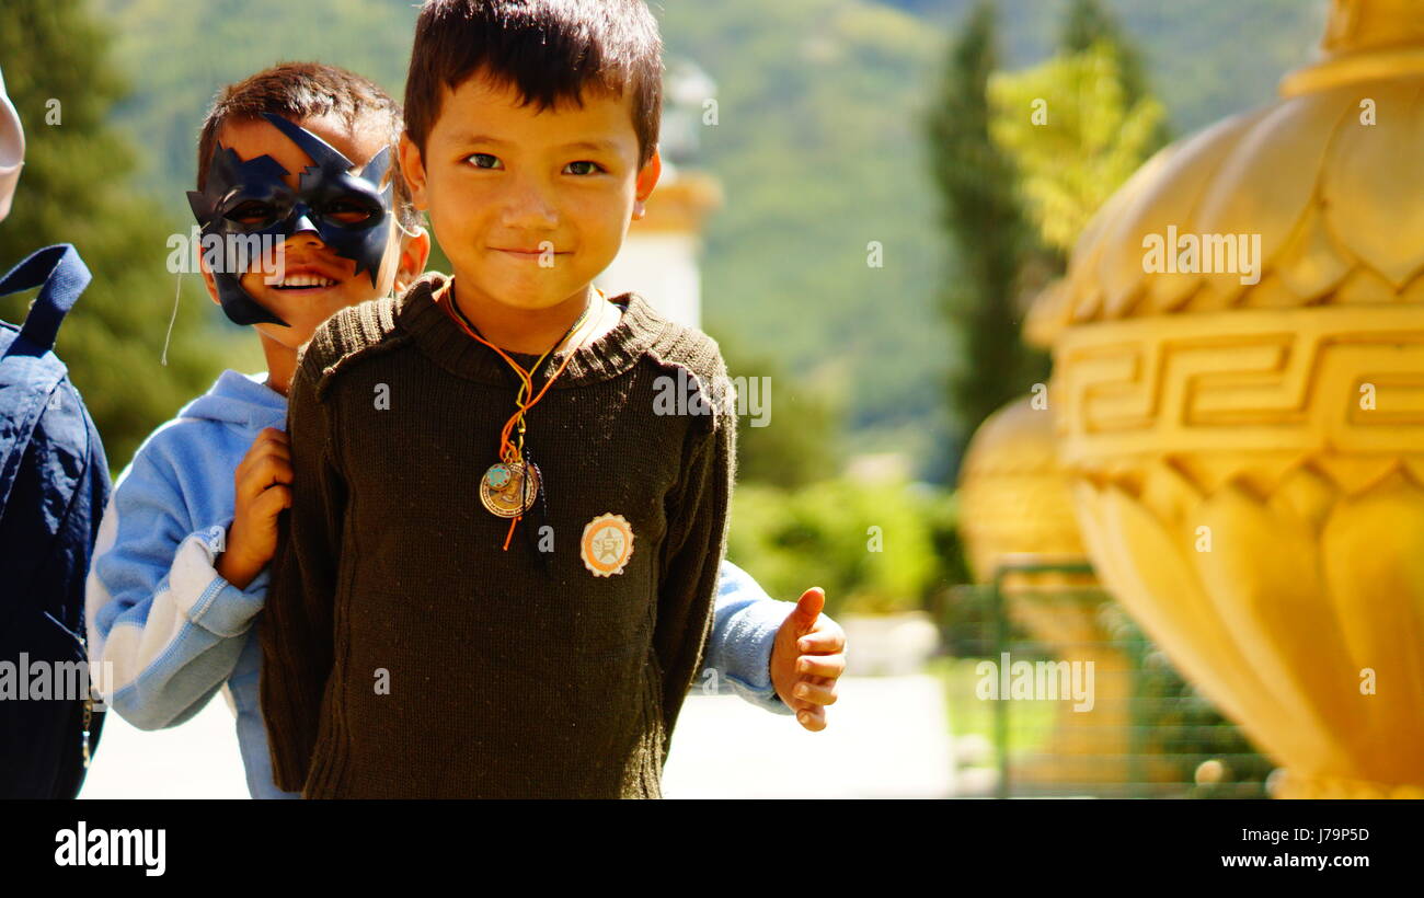
[{"label": "unmasked face of the boy in the dark knit sweater", "polygon": [[656,154],[638,169],[631,104],[585,93],[582,108],[540,112],[483,73],[443,88],[424,152],[402,138],[400,162],[461,295],[524,310],[582,302],[661,171]]}]

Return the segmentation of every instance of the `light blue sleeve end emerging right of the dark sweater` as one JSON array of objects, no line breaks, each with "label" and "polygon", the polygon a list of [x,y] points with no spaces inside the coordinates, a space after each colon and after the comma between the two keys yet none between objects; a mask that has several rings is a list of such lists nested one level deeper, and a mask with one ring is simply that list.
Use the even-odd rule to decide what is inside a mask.
[{"label": "light blue sleeve end emerging right of the dark sweater", "polygon": [[718,576],[716,606],[706,662],[693,689],[708,694],[736,693],[776,714],[790,714],[772,686],[776,630],[796,608],[766,595],[752,575],[729,561]]}]

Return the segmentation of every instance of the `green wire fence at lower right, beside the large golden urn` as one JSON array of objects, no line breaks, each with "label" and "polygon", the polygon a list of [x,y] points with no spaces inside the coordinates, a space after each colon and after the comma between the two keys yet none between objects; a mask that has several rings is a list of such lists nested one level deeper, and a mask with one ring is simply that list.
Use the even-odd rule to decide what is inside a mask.
[{"label": "green wire fence at lower right, beside the large golden urn", "polygon": [[[1265,797],[1269,759],[1091,574],[1082,559],[1012,556],[993,583],[956,586],[938,609],[950,726],[957,739],[987,739],[993,751],[997,776],[977,780],[991,783],[984,794]],[[994,696],[1005,683],[1011,696]],[[1074,683],[1091,686],[1079,689],[1087,700],[1072,696]]]}]

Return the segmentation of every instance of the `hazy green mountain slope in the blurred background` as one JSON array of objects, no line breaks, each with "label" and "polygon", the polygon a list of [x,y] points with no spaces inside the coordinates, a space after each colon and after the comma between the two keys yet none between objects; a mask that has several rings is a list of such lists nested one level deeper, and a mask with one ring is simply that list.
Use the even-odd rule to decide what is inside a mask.
[{"label": "hazy green mountain slope in the blurred background", "polygon": [[[701,135],[703,167],[726,191],[706,233],[706,329],[829,391],[852,451],[907,451],[931,477],[948,467],[941,406],[954,343],[934,297],[953,259],[917,121],[967,1],[652,4],[669,57],[718,84],[719,121]],[[1051,50],[1064,1],[1002,0],[1012,64]],[[221,84],[316,58],[399,95],[416,16],[409,0],[95,3],[135,90],[118,120],[145,154],[140,176],[179,221],[201,115]],[[1310,56],[1323,10],[1306,0],[1112,6],[1142,41],[1179,132],[1266,101]],[[867,265],[873,242],[880,268]]]}]

